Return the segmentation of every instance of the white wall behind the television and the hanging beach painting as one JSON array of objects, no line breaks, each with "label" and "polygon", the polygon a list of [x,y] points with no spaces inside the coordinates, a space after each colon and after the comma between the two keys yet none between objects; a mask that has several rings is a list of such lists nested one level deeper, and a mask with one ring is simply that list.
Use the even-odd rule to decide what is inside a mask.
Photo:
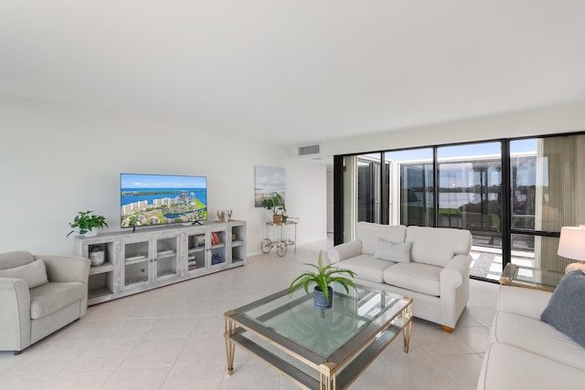
[{"label": "white wall behind the television and the hanging beach painting", "polygon": [[286,200],[300,216],[299,243],[325,237],[325,167],[284,150],[165,123],[0,96],[0,252],[73,254],[66,237],[78,211],[120,230],[120,173],[206,175],[208,217],[231,208],[248,222],[256,253],[270,212],[254,207],[254,166],[286,169]]}]

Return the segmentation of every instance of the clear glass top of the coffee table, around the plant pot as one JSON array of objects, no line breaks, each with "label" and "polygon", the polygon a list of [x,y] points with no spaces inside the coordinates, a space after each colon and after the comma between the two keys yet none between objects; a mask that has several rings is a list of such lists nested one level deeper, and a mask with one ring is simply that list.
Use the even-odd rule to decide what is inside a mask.
[{"label": "clear glass top of the coffee table, around the plant pot", "polygon": [[310,294],[298,290],[293,296],[282,291],[237,311],[293,343],[328,356],[402,300],[361,287],[349,293],[338,285],[334,289],[333,307],[328,310],[314,308],[312,290]]}]

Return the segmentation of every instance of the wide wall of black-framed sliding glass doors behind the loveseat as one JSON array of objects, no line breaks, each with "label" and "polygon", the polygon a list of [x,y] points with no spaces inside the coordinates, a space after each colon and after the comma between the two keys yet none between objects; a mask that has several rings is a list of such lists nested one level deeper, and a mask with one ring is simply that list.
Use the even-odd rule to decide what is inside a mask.
[{"label": "wide wall of black-framed sliding glass doors behind the loveseat", "polygon": [[468,229],[477,278],[499,279],[508,261],[562,271],[571,260],[557,255],[560,228],[585,224],[585,134],[343,161],[344,241],[357,221]]}]

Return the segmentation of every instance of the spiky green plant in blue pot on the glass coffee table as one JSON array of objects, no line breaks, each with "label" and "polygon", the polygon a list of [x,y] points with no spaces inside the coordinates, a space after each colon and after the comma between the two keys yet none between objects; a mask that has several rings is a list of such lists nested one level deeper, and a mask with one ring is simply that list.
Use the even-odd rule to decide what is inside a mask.
[{"label": "spiky green plant in blue pot on the glass coffee table", "polygon": [[313,267],[316,272],[306,271],[293,280],[289,287],[289,295],[303,286],[304,291],[309,293],[309,285],[314,283],[314,307],[317,309],[329,309],[333,304],[333,289],[330,284],[337,282],[343,286],[346,292],[349,292],[349,287],[356,289],[356,285],[352,279],[348,279],[340,274],[347,274],[350,277],[355,277],[356,273],[349,269],[338,269],[333,264],[328,266],[323,265],[323,251],[319,252],[317,265],[311,263],[303,263],[306,266]]}]

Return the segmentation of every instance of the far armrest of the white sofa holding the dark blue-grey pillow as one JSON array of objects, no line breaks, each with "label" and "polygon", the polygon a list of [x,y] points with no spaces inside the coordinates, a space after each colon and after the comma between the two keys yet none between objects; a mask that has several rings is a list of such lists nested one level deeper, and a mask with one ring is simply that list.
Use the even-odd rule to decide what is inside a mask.
[{"label": "far armrest of the white sofa holding the dark blue-grey pillow", "polygon": [[525,289],[515,286],[500,286],[497,295],[497,310],[514,312],[535,320],[548,305],[552,292]]}]

